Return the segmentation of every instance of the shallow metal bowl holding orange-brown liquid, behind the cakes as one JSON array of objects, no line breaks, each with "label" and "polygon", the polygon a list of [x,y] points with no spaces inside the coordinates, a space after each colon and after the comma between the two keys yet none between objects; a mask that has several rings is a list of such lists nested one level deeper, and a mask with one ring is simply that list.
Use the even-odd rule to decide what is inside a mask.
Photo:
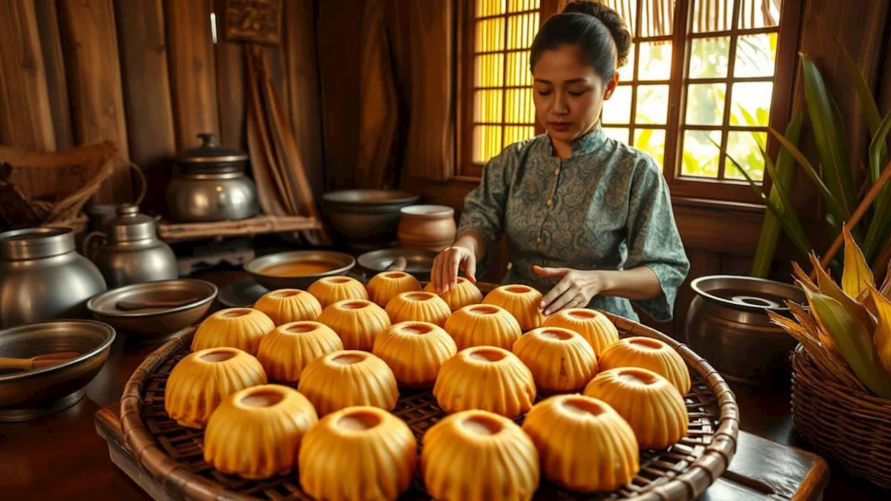
[{"label": "shallow metal bowl holding orange-brown liquid, behind the cakes", "polygon": [[[322,273],[301,276],[266,275],[262,272],[266,267],[300,261],[325,261],[330,262],[335,267]],[[345,252],[335,252],[333,250],[290,250],[267,254],[266,256],[253,259],[244,265],[244,271],[248,272],[257,283],[270,291],[278,289],[306,290],[312,283],[323,276],[347,275],[347,272],[355,266],[356,258]]]}]

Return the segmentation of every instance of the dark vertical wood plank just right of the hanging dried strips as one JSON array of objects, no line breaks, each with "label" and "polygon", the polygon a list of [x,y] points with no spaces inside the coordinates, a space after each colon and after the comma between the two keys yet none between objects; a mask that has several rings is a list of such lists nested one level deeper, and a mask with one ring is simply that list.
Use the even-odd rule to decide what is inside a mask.
[{"label": "dark vertical wood plank just right of the hanging dried strips", "polygon": [[359,152],[359,61],[364,0],[319,2],[316,47],[322,86],[325,186],[351,187]]}]

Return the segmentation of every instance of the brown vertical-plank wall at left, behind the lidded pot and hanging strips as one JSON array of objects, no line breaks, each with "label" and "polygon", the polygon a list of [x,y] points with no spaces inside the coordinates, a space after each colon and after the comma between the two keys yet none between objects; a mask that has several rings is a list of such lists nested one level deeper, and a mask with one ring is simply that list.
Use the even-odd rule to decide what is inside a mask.
[{"label": "brown vertical-plank wall at left, behind the lidded pot and hanging strips", "polygon": [[[264,50],[320,193],[315,3],[283,4],[282,44]],[[199,133],[247,150],[244,46],[225,41],[224,11],[224,0],[0,2],[0,144],[55,151],[114,141],[149,178],[151,208],[162,209],[170,160],[200,144]],[[95,197],[133,200],[123,166]]]}]

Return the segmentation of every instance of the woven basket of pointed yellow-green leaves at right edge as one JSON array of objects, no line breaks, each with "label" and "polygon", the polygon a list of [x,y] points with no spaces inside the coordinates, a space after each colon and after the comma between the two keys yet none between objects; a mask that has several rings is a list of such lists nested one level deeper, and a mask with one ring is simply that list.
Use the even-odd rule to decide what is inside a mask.
[{"label": "woven basket of pointed yellow-green leaves at right edge", "polygon": [[[795,320],[769,312],[800,345],[792,354],[797,432],[847,472],[891,488],[891,273],[881,287],[847,228],[840,283],[811,254],[795,266],[807,305]],[[889,270],[891,272],[891,270]]]}]

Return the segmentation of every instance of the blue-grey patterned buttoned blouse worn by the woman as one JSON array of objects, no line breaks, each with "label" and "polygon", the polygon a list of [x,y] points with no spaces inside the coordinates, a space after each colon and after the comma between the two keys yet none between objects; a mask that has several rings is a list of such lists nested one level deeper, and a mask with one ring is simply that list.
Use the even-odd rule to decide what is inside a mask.
[{"label": "blue-grey patterned buttoned blouse worn by the woman", "polygon": [[[547,135],[505,148],[464,201],[458,234],[470,229],[486,237],[490,250],[506,234],[511,268],[503,283],[526,283],[542,293],[558,279],[535,275],[533,265],[650,267],[662,294],[634,304],[657,321],[672,318],[677,289],[690,271],[656,162],[600,126],[578,138],[565,160],[553,154]],[[595,296],[588,308],[639,320],[625,298]]]}]

